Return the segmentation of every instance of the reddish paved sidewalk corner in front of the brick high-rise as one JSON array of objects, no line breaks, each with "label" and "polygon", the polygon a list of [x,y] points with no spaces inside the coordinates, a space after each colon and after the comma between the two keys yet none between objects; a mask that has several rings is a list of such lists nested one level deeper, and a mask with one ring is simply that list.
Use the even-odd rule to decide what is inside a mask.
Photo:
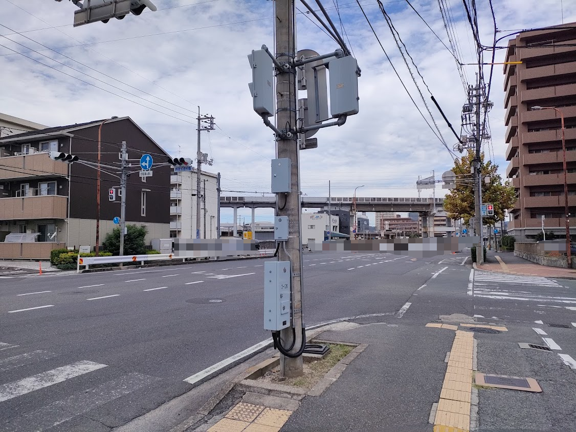
[{"label": "reddish paved sidewalk corner in front of the brick high-rise", "polygon": [[519,256],[514,252],[486,251],[486,263],[476,266],[478,270],[497,271],[513,275],[541,276],[544,278],[576,279],[576,270],[541,266]]}]

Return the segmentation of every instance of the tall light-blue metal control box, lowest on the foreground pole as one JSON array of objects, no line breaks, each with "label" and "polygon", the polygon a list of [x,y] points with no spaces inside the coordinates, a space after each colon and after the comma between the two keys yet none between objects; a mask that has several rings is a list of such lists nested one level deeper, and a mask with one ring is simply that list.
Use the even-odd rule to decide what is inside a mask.
[{"label": "tall light-blue metal control box, lowest on the foreground pole", "polygon": [[290,327],[290,262],[264,262],[264,329]]}]

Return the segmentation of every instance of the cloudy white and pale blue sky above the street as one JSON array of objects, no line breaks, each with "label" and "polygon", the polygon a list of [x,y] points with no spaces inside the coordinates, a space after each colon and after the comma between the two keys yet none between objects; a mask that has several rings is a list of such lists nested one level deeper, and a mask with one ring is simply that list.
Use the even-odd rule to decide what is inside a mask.
[{"label": "cloudy white and pale blue sky above the street", "polygon": [[[6,35],[0,37],[0,44],[18,52],[42,50],[25,55],[56,69],[0,47],[0,55],[10,54],[0,56],[0,70],[5,84],[0,96],[2,111],[52,126],[128,115],[164,149],[176,154],[180,148],[183,156],[193,156],[196,146],[195,116],[200,105],[202,113],[213,114],[224,131],[217,129],[210,132],[210,139],[204,133],[202,138],[203,151],[210,153],[215,160],[211,168],[222,173],[223,189],[269,190],[274,141],[271,131],[252,111],[247,86],[251,80],[247,54],[262,44],[271,48],[274,46],[273,2],[214,0],[191,5],[190,0],[155,0],[155,3],[158,12],[128,16],[121,21],[111,20],[108,24],[95,23],[73,28],[71,22],[75,6],[71,2],[0,0],[0,24],[16,32],[25,32],[10,35],[13,31],[0,27],[0,35]],[[334,5],[324,3],[340,28]],[[490,10],[487,2],[478,3],[480,39],[484,44],[491,45],[493,27]],[[564,2],[564,22],[574,21],[575,6],[567,3]],[[365,0],[362,4],[386,52],[416,103],[423,109],[423,103],[376,3]],[[452,55],[406,2],[383,4],[431,92],[456,131],[460,132],[460,112],[465,103],[465,91]],[[401,87],[356,3],[340,0],[339,5],[350,46],[362,68],[359,79],[361,111],[348,118],[342,127],[319,131],[316,134],[319,148],[302,152],[302,190],[308,195],[326,195],[328,180],[332,180],[333,195],[351,195],[354,187],[365,184],[365,188],[358,191],[359,194],[362,192],[361,195],[416,196],[415,181],[418,175],[428,176],[433,169],[440,174],[452,166],[452,159]],[[415,0],[412,5],[448,44],[437,2]],[[300,3],[297,6],[304,10]],[[506,0],[494,2],[494,6],[498,28],[503,31],[555,25],[561,20],[560,0]],[[314,20],[311,15],[306,16]],[[461,2],[452,2],[451,16],[456,24],[462,60],[472,63],[475,60],[473,40]],[[230,24],[238,22],[242,24]],[[498,33],[498,37],[505,34]],[[120,40],[126,38],[132,39]],[[507,39],[503,39],[499,45],[506,43]],[[40,44],[58,48],[58,52],[114,79],[46,50]],[[308,18],[298,15],[298,47],[324,53],[333,51],[336,44]],[[497,51],[497,62],[502,61],[503,54],[503,50]],[[490,53],[487,52],[485,56],[489,61]],[[473,81],[474,67],[466,66],[465,69],[468,79]],[[113,96],[60,71],[177,119]],[[486,67],[486,76],[488,71]],[[97,82],[90,76],[138,94],[149,102]],[[446,142],[452,147],[456,139],[431,102],[426,87],[419,82]],[[503,142],[502,83],[502,67],[497,65],[494,67],[491,92],[494,108],[490,118],[494,156],[503,172],[506,169],[503,158],[506,145]],[[126,84],[169,103],[128,88]],[[441,193],[438,190],[438,195]],[[425,190],[423,194],[427,196],[430,191]]]}]

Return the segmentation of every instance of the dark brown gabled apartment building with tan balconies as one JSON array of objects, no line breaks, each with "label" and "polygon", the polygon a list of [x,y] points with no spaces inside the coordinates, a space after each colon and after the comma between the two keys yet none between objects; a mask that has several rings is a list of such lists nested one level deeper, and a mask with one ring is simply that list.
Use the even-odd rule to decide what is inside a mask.
[{"label": "dark brown gabled apartment building with tan balconies", "polygon": [[[57,247],[96,244],[96,184],[98,127],[103,120],[52,127],[0,139],[0,257],[47,258]],[[128,117],[108,120],[102,128],[100,244],[115,228],[120,200],[108,198],[119,190],[119,153],[126,141],[133,166],[127,181],[126,221],[146,226],[147,241],[170,233],[170,167],[159,166],[168,154]],[[78,156],[67,164],[54,161],[50,151]],[[154,158],[153,176],[143,182],[139,159]],[[86,166],[81,162],[92,162]],[[34,243],[2,242],[9,233],[28,233]],[[27,236],[31,237],[31,236]]]}]

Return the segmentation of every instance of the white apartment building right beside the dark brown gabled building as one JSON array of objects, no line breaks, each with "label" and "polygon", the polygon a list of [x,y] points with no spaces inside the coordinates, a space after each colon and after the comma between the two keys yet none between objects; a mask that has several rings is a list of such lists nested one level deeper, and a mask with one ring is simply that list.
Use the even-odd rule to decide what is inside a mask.
[{"label": "white apartment building right beside the dark brown gabled building", "polygon": [[200,175],[200,220],[196,223],[196,169],[175,166],[170,175],[170,237],[218,238],[218,175]]}]

